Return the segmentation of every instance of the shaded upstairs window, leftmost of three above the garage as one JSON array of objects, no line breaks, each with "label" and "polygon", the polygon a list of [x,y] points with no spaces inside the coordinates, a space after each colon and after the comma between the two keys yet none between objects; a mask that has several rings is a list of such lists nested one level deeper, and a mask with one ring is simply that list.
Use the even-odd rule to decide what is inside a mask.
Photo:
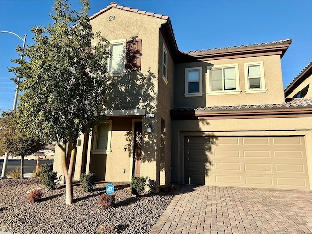
[{"label": "shaded upstairs window, leftmost of three above the garage", "polygon": [[185,97],[202,96],[202,68],[185,69]]}]

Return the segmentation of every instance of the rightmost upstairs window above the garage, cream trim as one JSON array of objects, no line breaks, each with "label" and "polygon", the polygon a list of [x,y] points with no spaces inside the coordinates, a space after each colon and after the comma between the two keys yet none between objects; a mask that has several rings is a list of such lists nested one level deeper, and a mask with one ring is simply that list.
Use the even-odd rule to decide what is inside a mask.
[{"label": "rightmost upstairs window above the garage, cream trim", "polygon": [[248,62],[245,66],[245,92],[266,92],[263,62]]}]

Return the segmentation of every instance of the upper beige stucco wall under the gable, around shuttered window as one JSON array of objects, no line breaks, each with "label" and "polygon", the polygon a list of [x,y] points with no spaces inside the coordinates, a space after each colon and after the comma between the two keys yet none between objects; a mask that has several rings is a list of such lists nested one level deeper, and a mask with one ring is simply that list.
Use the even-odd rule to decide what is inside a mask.
[{"label": "upper beige stucco wall under the gable, around shuttered window", "polygon": [[[109,16],[115,16],[115,20],[109,21]],[[141,70],[127,72],[125,76],[114,78],[119,86],[109,94],[108,109],[147,107],[151,111],[155,110],[157,92],[150,89],[158,89],[159,28],[165,22],[163,19],[116,8],[111,8],[90,21],[93,31],[101,32],[109,41],[129,40],[133,36],[142,40]],[[150,75],[148,71],[151,72]],[[145,93],[142,93],[142,90]],[[150,96],[149,101],[145,96]]]}]

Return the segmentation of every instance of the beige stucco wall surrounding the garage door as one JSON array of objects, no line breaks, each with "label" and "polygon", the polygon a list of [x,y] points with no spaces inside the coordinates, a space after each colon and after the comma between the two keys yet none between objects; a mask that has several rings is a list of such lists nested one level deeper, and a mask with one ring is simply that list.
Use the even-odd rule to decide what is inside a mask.
[{"label": "beige stucco wall surrounding the garage door", "polygon": [[[186,124],[187,122],[187,124]],[[184,182],[184,136],[304,136],[312,188],[312,118],[211,119],[172,121],[172,181]]]}]

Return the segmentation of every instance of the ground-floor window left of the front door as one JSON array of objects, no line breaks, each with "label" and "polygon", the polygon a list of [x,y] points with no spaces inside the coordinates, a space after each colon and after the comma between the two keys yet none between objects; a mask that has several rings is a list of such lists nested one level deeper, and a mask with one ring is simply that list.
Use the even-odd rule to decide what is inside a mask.
[{"label": "ground-floor window left of the front door", "polygon": [[95,154],[110,154],[111,152],[111,134],[112,121],[107,120],[95,128],[95,139],[93,153]]}]

